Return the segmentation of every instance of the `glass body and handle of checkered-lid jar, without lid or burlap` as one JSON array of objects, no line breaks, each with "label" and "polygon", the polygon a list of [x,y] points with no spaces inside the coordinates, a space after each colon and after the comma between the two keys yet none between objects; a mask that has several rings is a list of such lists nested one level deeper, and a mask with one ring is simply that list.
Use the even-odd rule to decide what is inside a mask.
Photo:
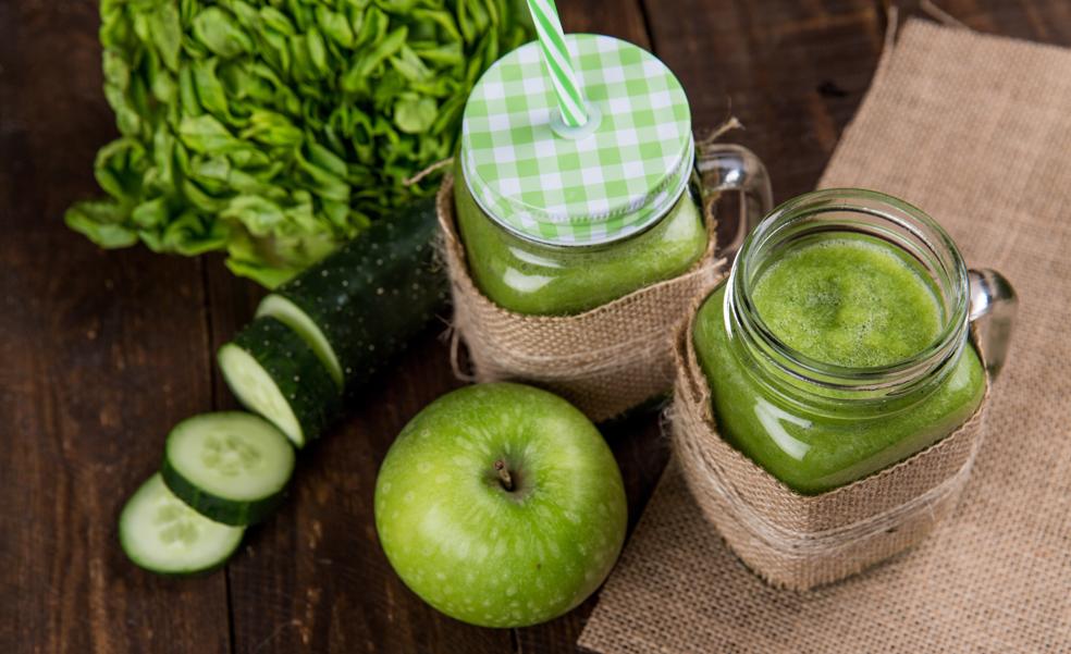
[{"label": "glass body and handle of checkered-lid jar, without lid or burlap", "polygon": [[731,256],[773,206],[762,161],[733,144],[699,146],[691,183],[647,229],[593,245],[555,244],[512,229],[477,203],[460,165],[454,201],[469,272],[480,291],[510,311],[566,316],[687,272],[709,244],[705,203],[728,190],[742,193],[735,236],[718,248],[721,256]]}]

